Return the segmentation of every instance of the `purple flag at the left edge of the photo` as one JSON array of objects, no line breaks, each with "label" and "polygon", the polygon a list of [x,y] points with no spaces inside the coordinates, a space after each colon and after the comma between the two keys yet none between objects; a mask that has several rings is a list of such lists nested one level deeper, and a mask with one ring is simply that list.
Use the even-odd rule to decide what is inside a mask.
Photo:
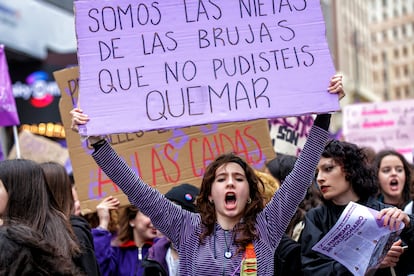
[{"label": "purple flag at the left edge of the photo", "polygon": [[7,66],[4,45],[0,45],[0,126],[20,125]]}]

